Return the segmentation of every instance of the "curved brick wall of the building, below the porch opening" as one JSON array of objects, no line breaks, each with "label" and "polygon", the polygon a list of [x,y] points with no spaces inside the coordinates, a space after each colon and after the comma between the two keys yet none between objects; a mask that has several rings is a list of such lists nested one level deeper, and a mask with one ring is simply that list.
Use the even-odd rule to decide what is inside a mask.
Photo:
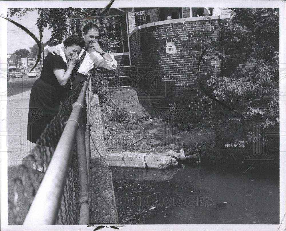
[{"label": "curved brick wall of the building, below the porch opening", "polygon": [[[213,19],[217,21],[217,17]],[[220,71],[219,61],[203,58],[197,70],[199,56],[204,50],[202,41],[216,36],[217,32],[207,20],[196,18],[147,24],[130,35],[132,65],[139,67],[131,81],[140,102],[150,113],[158,116],[174,102],[180,105],[182,113],[196,119],[221,112],[221,106],[205,98],[199,87],[200,78],[205,80]],[[166,53],[167,39],[175,42],[176,53]]]}]

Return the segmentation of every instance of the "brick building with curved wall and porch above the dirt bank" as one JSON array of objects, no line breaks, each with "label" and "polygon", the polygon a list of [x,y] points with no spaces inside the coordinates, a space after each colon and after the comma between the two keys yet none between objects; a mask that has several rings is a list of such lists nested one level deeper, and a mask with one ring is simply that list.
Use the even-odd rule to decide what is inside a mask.
[{"label": "brick building with curved wall and porch above the dirt bank", "polygon": [[[138,21],[135,16],[140,11],[144,17]],[[207,18],[191,17],[195,11],[193,8],[111,8],[109,11],[112,15],[126,12],[126,30],[121,33],[126,34],[129,43],[126,47],[130,49],[128,53],[125,49],[125,53],[116,54],[116,60],[119,65],[131,66],[125,68],[124,76],[129,77],[128,83],[136,89],[140,103],[154,116],[160,117],[174,102],[182,114],[197,119],[221,111],[220,105],[205,98],[199,87],[199,79],[220,71],[220,62],[203,59],[200,70],[197,69],[198,58],[204,50],[202,43],[217,37],[217,31]],[[230,11],[221,11],[221,16],[210,16],[210,19],[229,20]],[[168,15],[173,16],[172,20],[166,20]],[[120,28],[124,22],[120,22]]]}]

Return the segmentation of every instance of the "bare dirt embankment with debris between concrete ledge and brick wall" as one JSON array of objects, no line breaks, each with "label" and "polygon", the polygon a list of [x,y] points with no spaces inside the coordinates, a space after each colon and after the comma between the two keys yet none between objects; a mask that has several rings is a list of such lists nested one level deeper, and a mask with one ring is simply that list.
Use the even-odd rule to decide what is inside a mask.
[{"label": "bare dirt embankment with debris between concrete ledge and brick wall", "polygon": [[195,143],[204,143],[213,133],[184,129],[178,130],[176,122],[152,118],[139,103],[133,88],[110,89],[110,99],[102,105],[104,138],[108,152],[161,153],[168,150],[185,155],[193,154]]}]

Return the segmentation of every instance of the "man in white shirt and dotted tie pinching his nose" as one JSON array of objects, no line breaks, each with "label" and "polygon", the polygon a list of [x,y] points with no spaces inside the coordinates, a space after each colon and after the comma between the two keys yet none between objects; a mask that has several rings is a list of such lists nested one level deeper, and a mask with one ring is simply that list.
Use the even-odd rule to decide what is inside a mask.
[{"label": "man in white shirt and dotted tie pinching his nose", "polygon": [[[109,70],[116,69],[117,61],[114,59],[113,54],[108,54],[101,49],[98,44],[98,39],[100,36],[100,29],[94,23],[88,23],[82,29],[82,38],[84,39],[86,46],[79,54],[79,59],[81,59],[84,52],[86,53],[84,59],[78,69],[74,69],[74,78],[72,78],[72,88],[75,87],[90,75],[90,71],[93,67],[104,67]],[[63,47],[63,43],[56,45],[54,47],[46,46],[44,50],[44,55],[48,53],[58,54],[59,49]],[[85,51],[86,50],[86,51]],[[77,65],[76,65],[77,66]]]}]

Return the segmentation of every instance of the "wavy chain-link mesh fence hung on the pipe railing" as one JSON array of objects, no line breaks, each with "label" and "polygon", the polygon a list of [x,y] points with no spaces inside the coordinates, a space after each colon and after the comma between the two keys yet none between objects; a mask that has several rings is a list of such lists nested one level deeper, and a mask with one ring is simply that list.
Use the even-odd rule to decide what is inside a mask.
[{"label": "wavy chain-link mesh fence hung on the pipe railing", "polygon": [[[80,183],[82,183],[82,180],[80,180],[81,173],[79,172],[79,161],[78,161],[79,154],[77,146],[78,142],[75,138],[75,134],[77,133],[78,128],[82,128],[85,131],[85,125],[87,122],[86,118],[88,115],[88,107],[86,106],[84,96],[81,97],[82,99],[81,102],[77,100],[78,98],[80,98],[79,95],[81,93],[84,93],[85,95],[87,91],[88,94],[90,94],[90,88],[88,88],[87,85],[88,85],[87,81],[80,83],[76,87],[76,89],[72,91],[70,97],[64,103],[61,103],[59,113],[46,126],[39,140],[37,140],[37,146],[34,148],[34,152],[41,153],[41,156],[43,157],[43,161],[45,162],[45,164],[46,165],[49,164],[46,173],[43,174],[42,172],[32,170],[31,164],[30,166],[21,165],[18,166],[16,177],[8,182],[8,186],[11,187],[14,195],[14,198],[8,198],[8,206],[9,205],[11,206],[14,220],[17,224],[23,224],[24,220],[27,219],[28,217],[27,214],[29,214],[31,210],[34,211],[36,206],[38,207],[36,208],[36,210],[40,211],[45,209],[47,210],[48,208],[45,205],[44,199],[43,201],[40,201],[39,204],[33,205],[35,203],[34,199],[38,196],[36,195],[36,192],[39,193],[39,191],[41,191],[40,194],[42,194],[42,192],[45,193],[46,190],[50,190],[51,188],[53,190],[53,188],[57,188],[56,187],[57,185],[59,189],[56,190],[58,191],[59,195],[57,196],[57,193],[55,193],[55,198],[52,198],[52,200],[50,200],[51,205],[49,205],[49,207],[55,208],[53,209],[56,211],[56,216],[55,218],[51,219],[53,220],[52,223],[50,223],[51,221],[48,221],[47,223],[44,222],[44,224],[79,224],[80,207],[82,204],[82,198],[80,196],[80,194],[82,193],[82,188]],[[84,88],[85,90],[83,90]],[[90,101],[91,96],[89,95],[86,98],[88,101]],[[90,105],[90,102],[87,103]],[[75,104],[77,104],[76,106],[80,105],[81,107],[81,109],[77,110],[76,112],[76,114],[80,114],[78,115],[78,119],[71,118],[71,113],[74,110]],[[80,121],[80,118],[81,122],[78,122]],[[74,137],[69,137],[70,142],[67,142],[69,143],[67,149],[61,148],[59,150],[59,148],[57,147],[58,143],[60,139],[65,139],[65,137],[61,138],[61,136],[63,134],[65,127],[67,127],[68,124],[67,122],[71,121],[76,122],[78,124],[78,127],[74,129],[75,130],[73,133]],[[62,143],[65,143],[65,141],[63,141]],[[45,149],[44,146],[48,146],[49,148]],[[54,150],[55,150],[54,154],[50,155],[50,153],[53,153]],[[59,165],[55,166],[55,164],[51,164],[52,160],[54,158],[57,158],[56,156],[58,156],[56,155],[56,153],[60,153],[63,155],[63,157],[67,157],[66,160],[65,158],[61,158],[61,161],[66,163],[58,163],[59,161],[54,161],[56,164]],[[84,156],[86,158],[88,155],[84,153]],[[31,159],[32,163],[33,162],[32,155]],[[53,172],[59,171],[58,175],[60,179],[61,172],[63,171],[61,169],[61,164],[67,166],[65,172],[63,172],[62,174],[63,176],[62,182],[60,181],[57,182],[58,178],[54,178],[51,180],[51,182],[55,185],[47,186],[46,182],[49,181],[50,176],[46,175],[52,175]],[[46,187],[46,190],[45,189],[41,190],[41,185],[42,182],[44,181],[45,181],[45,186],[43,187],[44,188]],[[84,184],[88,185],[88,182],[85,182]],[[48,196],[50,197],[51,195]],[[36,216],[41,216],[41,214],[39,214],[38,212],[36,212],[36,214],[37,214]],[[33,219],[34,221],[37,220],[39,221],[41,219],[45,220],[46,218],[34,217]]]}]

